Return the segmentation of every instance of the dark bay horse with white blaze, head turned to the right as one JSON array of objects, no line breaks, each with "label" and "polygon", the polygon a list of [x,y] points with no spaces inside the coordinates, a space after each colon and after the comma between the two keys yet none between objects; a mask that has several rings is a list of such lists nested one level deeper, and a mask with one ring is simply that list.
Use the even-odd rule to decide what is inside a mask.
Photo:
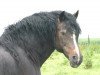
[{"label": "dark bay horse with white blaze, head turned to the right", "polygon": [[41,75],[42,64],[55,49],[78,67],[82,54],[77,16],[78,11],[40,12],[9,25],[0,37],[0,75]]}]

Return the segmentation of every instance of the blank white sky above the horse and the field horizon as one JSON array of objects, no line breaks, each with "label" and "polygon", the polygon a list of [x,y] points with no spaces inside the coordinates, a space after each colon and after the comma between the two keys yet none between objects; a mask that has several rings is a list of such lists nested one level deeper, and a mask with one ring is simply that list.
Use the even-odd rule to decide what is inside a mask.
[{"label": "blank white sky above the horse and the field horizon", "polygon": [[26,16],[55,10],[72,14],[79,10],[80,38],[100,38],[100,0],[0,0],[0,35],[8,25]]}]

